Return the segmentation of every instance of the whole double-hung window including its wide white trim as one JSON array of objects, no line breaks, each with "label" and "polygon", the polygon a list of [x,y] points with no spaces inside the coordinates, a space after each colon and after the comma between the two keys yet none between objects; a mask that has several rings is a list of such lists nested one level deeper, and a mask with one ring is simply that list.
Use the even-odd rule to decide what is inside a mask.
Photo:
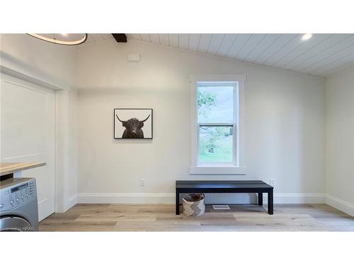
[{"label": "whole double-hung window including its wide white trim", "polygon": [[190,174],[245,174],[244,75],[191,78]]}]

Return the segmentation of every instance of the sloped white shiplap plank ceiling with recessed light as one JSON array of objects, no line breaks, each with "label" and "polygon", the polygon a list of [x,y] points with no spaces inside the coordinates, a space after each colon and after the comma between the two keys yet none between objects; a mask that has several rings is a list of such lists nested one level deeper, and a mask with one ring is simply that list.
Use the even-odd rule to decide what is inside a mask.
[{"label": "sloped white shiplap plank ceiling with recessed light", "polygon": [[[112,37],[89,34],[88,43]],[[354,67],[353,34],[127,34],[129,39],[227,57],[280,69],[329,76]]]}]

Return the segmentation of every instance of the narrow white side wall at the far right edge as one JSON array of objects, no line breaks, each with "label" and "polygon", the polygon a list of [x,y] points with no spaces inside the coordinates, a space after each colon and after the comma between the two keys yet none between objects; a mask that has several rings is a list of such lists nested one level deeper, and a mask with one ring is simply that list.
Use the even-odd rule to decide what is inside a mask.
[{"label": "narrow white side wall at the far right edge", "polygon": [[354,216],[354,70],[326,81],[328,203]]}]

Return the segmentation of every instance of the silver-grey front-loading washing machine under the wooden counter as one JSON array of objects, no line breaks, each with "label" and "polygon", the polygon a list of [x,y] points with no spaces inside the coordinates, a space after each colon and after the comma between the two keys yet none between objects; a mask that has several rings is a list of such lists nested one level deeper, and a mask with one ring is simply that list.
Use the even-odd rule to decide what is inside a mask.
[{"label": "silver-grey front-loading washing machine under the wooden counter", "polygon": [[0,231],[38,231],[38,201],[33,178],[0,182]]}]

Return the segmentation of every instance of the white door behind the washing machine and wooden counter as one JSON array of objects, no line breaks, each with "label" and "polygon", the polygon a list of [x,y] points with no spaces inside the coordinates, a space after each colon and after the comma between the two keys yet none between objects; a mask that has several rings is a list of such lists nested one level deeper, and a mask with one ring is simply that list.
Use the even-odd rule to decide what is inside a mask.
[{"label": "white door behind the washing machine and wooden counter", "polygon": [[55,93],[1,74],[1,161],[45,162],[35,177],[39,220],[55,211]]}]

